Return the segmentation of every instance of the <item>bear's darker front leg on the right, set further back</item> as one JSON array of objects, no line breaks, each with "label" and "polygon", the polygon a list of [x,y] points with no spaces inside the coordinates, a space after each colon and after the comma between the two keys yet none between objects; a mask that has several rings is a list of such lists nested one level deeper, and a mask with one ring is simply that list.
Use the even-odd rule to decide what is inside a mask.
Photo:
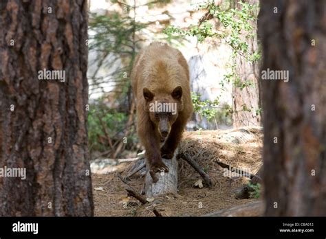
[{"label": "bear's darker front leg on the right, set further back", "polygon": [[180,120],[177,120],[172,126],[168,138],[166,139],[164,146],[161,148],[161,156],[164,159],[172,159],[174,151],[180,143],[182,138],[182,132],[186,124],[183,124]]}]

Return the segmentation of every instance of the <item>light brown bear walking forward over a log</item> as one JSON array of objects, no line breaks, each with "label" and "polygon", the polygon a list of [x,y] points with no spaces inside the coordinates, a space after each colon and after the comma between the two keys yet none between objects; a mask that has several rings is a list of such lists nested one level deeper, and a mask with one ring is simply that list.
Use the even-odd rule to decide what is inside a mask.
[{"label": "light brown bear walking forward over a log", "polygon": [[154,181],[156,172],[169,172],[161,157],[172,159],[193,113],[186,59],[173,47],[151,43],[135,58],[131,84],[137,102],[137,132]]}]

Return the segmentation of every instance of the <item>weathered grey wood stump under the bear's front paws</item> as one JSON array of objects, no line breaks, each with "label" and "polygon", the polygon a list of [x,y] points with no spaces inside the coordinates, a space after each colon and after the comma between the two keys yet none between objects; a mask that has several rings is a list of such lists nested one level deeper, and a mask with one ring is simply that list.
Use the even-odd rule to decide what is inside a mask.
[{"label": "weathered grey wood stump under the bear's front paws", "polygon": [[162,194],[173,193],[177,194],[177,152],[172,159],[162,159],[166,166],[169,167],[169,172],[161,172],[155,174],[158,181],[153,183],[153,179],[149,171],[146,172],[145,178],[145,195],[146,198],[153,198]]}]

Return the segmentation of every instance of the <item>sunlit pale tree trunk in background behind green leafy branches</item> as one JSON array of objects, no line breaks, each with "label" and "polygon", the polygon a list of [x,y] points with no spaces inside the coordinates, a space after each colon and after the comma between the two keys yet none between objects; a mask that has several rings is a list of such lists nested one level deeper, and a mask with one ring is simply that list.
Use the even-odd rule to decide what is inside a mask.
[{"label": "sunlit pale tree trunk in background behind green leafy branches", "polygon": [[[239,0],[235,0],[235,8],[241,9]],[[258,4],[258,0],[243,0],[243,2]],[[258,12],[255,12],[256,16]],[[257,31],[257,23],[252,22],[253,32]],[[245,40],[245,35],[240,36],[241,40]],[[246,39],[248,43],[248,52],[257,52],[257,36],[254,39]],[[234,127],[240,126],[260,126],[261,114],[259,110],[261,108],[259,102],[259,65],[257,62],[250,62],[244,56],[237,54],[235,58],[235,71],[240,77],[240,82],[252,82],[251,86],[240,87],[233,86],[232,88],[232,122]],[[246,111],[248,109],[248,111]],[[258,112],[258,113],[257,113]]]}]

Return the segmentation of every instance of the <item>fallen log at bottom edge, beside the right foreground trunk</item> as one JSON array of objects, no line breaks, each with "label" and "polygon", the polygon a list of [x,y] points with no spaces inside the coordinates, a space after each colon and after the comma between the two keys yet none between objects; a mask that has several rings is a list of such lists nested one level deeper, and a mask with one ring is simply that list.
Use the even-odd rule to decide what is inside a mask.
[{"label": "fallen log at bottom edge, beside the right foreground trunk", "polygon": [[237,207],[222,209],[217,212],[211,212],[203,216],[263,216],[263,211],[263,202],[257,201]]}]

